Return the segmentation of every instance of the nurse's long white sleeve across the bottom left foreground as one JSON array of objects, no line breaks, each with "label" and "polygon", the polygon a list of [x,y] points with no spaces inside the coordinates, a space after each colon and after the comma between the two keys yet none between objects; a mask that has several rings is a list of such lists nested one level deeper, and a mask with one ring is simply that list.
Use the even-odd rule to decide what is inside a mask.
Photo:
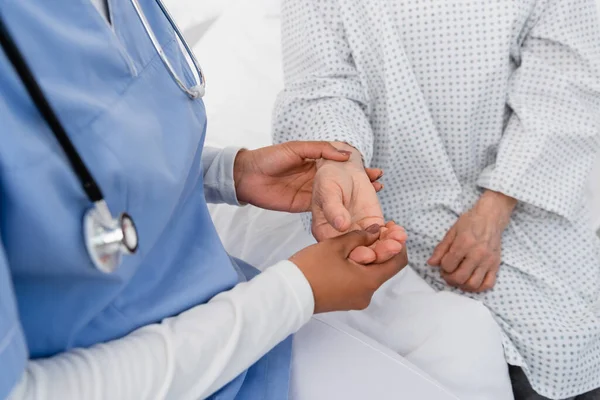
[{"label": "nurse's long white sleeve across the bottom left foreground", "polygon": [[30,361],[10,399],[205,398],[308,321],[312,296],[282,262],[161,324]]}]

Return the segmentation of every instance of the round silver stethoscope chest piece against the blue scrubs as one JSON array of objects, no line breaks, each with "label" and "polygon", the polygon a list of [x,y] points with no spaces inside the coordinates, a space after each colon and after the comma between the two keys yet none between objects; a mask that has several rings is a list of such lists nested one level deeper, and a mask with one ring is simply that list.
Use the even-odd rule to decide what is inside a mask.
[{"label": "round silver stethoscope chest piece against the blue scrubs", "polygon": [[104,201],[99,201],[83,217],[84,240],[94,266],[107,274],[121,264],[123,255],[138,249],[133,219],[126,213],[112,218]]}]

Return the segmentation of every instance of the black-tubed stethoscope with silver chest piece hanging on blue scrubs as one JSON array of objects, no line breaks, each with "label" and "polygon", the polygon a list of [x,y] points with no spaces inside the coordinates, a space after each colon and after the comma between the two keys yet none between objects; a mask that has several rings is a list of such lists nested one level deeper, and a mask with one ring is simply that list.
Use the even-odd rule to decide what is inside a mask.
[{"label": "black-tubed stethoscope with silver chest piece hanging on blue scrubs", "polygon": [[[197,99],[204,96],[205,93],[205,80],[202,68],[198,64],[196,57],[190,50],[187,41],[181,34],[181,31],[173,21],[173,18],[162,4],[161,0],[156,0],[156,3],[160,7],[161,11],[169,21],[169,24],[175,31],[180,43],[185,48],[187,55],[194,64],[197,76],[194,76],[196,84],[191,88],[188,88],[181,79],[175,73],[171,63],[167,59],[165,52],[160,46],[154,32],[152,31],[144,12],[142,11],[138,0],[131,0],[131,4],[135,9],[144,30],[148,34],[154,49],[160,56],[163,64],[168,70],[169,74],[177,83],[177,86],[185,92],[190,99]],[[79,153],[73,146],[73,143],[69,139],[63,125],[60,123],[55,112],[52,110],[48,99],[44,95],[40,85],[33,76],[33,73],[27,65],[23,55],[19,51],[17,45],[12,39],[8,32],[8,28],[4,24],[2,17],[0,16],[0,45],[4,49],[6,56],[17,71],[20,79],[23,81],[27,92],[31,96],[33,102],[38,108],[40,114],[44,117],[50,129],[54,133],[54,136],[58,140],[58,143],[62,147],[69,164],[73,168],[73,171],[77,175],[83,190],[85,191],[90,202],[93,204],[83,217],[83,236],[87,252],[94,264],[94,266],[104,272],[114,272],[123,261],[123,255],[134,254],[138,249],[138,233],[133,222],[133,219],[126,212],[119,215],[118,218],[114,218],[104,200],[104,195],[100,190],[100,187],[92,177],[92,174],[85,166],[83,160],[79,156]]]}]

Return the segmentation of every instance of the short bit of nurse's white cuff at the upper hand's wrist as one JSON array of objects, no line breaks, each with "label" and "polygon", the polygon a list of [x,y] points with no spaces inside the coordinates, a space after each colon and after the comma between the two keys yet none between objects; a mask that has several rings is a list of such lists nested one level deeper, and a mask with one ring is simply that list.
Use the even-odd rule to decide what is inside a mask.
[{"label": "short bit of nurse's white cuff at the upper hand's wrist", "polygon": [[237,147],[224,149],[204,147],[202,171],[204,172],[204,195],[208,203],[240,205],[233,179],[233,165],[239,151]]}]

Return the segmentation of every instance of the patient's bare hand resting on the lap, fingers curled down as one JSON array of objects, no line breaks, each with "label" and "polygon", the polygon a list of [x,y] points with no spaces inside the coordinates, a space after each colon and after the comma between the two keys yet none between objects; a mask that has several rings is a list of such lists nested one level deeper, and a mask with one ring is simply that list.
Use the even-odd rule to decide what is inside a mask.
[{"label": "patient's bare hand resting on the lap, fingers curled down", "polygon": [[440,267],[449,285],[466,292],[493,288],[500,268],[502,233],[516,204],[512,197],[486,191],[446,233],[429,265]]}]

